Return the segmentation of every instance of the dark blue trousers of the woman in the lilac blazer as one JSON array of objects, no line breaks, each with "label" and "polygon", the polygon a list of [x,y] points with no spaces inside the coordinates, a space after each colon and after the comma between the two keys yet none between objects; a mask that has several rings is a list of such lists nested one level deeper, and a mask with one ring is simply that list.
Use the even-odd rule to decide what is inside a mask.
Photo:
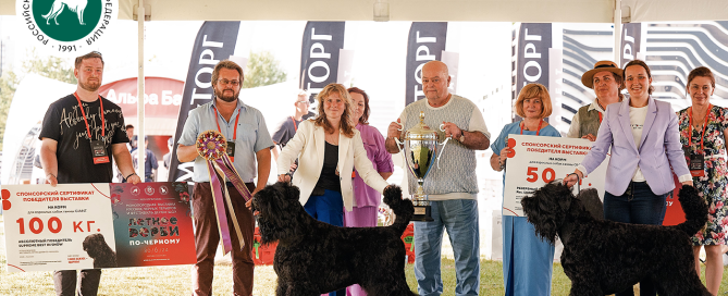
[{"label": "dark blue trousers of the woman in the lilac blazer", "polygon": [[[665,220],[665,206],[668,195],[655,195],[646,182],[630,182],[627,190],[615,196],[604,193],[604,219],[631,224],[662,225]],[[630,287],[627,291],[615,294],[615,296],[632,296],[634,292]],[[640,282],[641,296],[657,295],[652,281]]]}]

